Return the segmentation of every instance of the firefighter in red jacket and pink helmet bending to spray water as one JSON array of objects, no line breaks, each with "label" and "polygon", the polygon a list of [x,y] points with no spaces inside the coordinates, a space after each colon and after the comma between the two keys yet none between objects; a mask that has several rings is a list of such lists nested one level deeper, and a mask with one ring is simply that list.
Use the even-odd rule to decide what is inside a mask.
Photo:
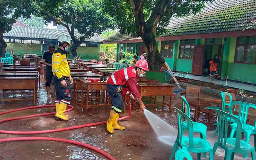
[{"label": "firefighter in red jacket and pink helmet bending to spray water", "polygon": [[112,103],[110,116],[107,121],[108,132],[113,133],[114,129],[125,129],[124,126],[120,126],[117,123],[119,114],[124,108],[123,96],[125,94],[130,94],[131,92],[134,98],[140,103],[141,111],[144,111],[145,105],[140,97],[137,78],[145,75],[146,71],[148,71],[148,62],[146,60],[138,60],[135,67],[120,69],[108,78],[107,89]]}]

